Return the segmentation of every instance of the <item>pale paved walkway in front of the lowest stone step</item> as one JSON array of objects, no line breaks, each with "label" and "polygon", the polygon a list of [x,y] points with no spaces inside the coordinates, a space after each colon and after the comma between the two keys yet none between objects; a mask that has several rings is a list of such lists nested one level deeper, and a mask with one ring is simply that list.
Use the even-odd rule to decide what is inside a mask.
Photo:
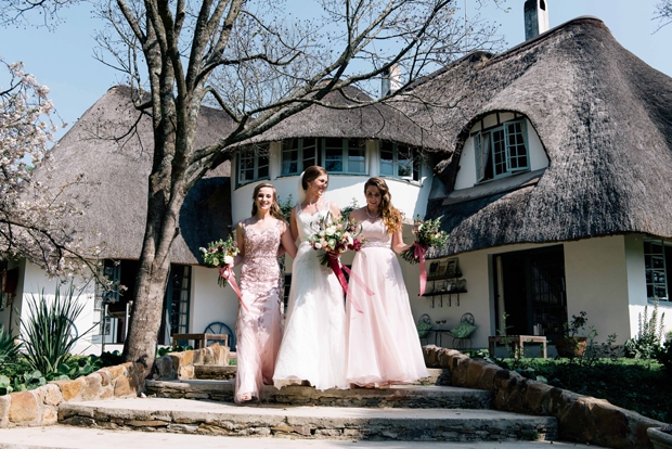
[{"label": "pale paved walkway in front of the lowest stone step", "polygon": [[[553,445],[553,446],[551,446]],[[2,449],[119,449],[148,447],[160,449],[567,449],[585,445],[573,442],[425,442],[425,441],[344,441],[328,439],[250,438],[185,435],[150,432],[103,431],[54,425],[0,429]],[[597,446],[591,448],[598,449]]]}]

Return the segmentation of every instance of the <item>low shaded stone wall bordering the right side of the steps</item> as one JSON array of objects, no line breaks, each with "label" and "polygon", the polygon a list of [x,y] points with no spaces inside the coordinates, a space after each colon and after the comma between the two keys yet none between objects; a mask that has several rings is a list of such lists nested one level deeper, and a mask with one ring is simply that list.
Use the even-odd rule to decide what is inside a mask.
[{"label": "low shaded stone wall bordering the right side of the steps", "polygon": [[453,386],[492,392],[496,410],[555,416],[560,440],[618,449],[651,448],[646,429],[664,425],[607,400],[531,381],[457,350],[431,345],[423,351],[427,367],[450,370]]}]

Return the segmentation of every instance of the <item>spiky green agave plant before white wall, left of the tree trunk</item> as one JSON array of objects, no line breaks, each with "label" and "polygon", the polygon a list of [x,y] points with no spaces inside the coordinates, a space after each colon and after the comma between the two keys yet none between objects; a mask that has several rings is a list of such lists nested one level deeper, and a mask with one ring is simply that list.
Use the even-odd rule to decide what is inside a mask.
[{"label": "spiky green agave plant before white wall, left of the tree trunk", "polygon": [[79,295],[70,284],[62,294],[56,286],[52,298],[44,294],[44,288],[27,302],[29,315],[21,320],[24,356],[36,371],[51,374],[67,362],[70,351],[82,336],[77,333],[75,321],[83,310]]}]

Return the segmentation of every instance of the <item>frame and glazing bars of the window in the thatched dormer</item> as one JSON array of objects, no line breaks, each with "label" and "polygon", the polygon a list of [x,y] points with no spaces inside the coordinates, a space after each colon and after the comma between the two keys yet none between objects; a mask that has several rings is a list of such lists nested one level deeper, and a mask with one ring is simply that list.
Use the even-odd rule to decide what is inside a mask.
[{"label": "frame and glazing bars of the window in the thatched dormer", "polygon": [[[509,127],[515,127],[516,125],[520,125],[521,129],[519,132],[511,132]],[[495,139],[495,133],[501,132],[501,139]],[[488,145],[489,155],[487,162],[482,161],[482,152],[481,147],[481,139],[483,136],[488,136]],[[511,143],[511,138],[514,136],[520,136],[522,142],[514,142]],[[512,120],[503,121],[496,126],[491,128],[481,129],[478,132],[473,134],[474,138],[474,158],[476,164],[476,183],[479,184],[481,182],[488,182],[495,179],[502,179],[509,176],[518,175],[525,171],[531,170],[530,163],[530,139],[528,133],[528,125],[527,119],[525,118],[514,118]],[[496,145],[499,143],[503,143],[503,149],[497,149]],[[525,158],[526,165],[513,167],[512,161],[522,158],[524,155],[521,153],[515,152],[513,153],[513,149],[522,146],[525,150]],[[502,156],[503,157],[500,157]],[[497,158],[499,157],[499,158]],[[484,166],[483,166],[484,164]],[[488,165],[492,166],[492,178],[484,178]],[[504,167],[502,169],[502,167]],[[497,170],[501,170],[497,172]],[[483,172],[483,177],[481,178],[481,171]]]}]

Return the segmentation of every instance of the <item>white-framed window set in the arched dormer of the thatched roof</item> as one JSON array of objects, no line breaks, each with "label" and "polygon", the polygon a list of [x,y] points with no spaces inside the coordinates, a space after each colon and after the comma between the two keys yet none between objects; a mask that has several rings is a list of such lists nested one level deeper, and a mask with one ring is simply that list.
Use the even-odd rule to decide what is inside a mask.
[{"label": "white-framed window set in the arched dormer of the thatched roof", "polygon": [[474,136],[477,182],[530,169],[525,120],[506,121]]}]

